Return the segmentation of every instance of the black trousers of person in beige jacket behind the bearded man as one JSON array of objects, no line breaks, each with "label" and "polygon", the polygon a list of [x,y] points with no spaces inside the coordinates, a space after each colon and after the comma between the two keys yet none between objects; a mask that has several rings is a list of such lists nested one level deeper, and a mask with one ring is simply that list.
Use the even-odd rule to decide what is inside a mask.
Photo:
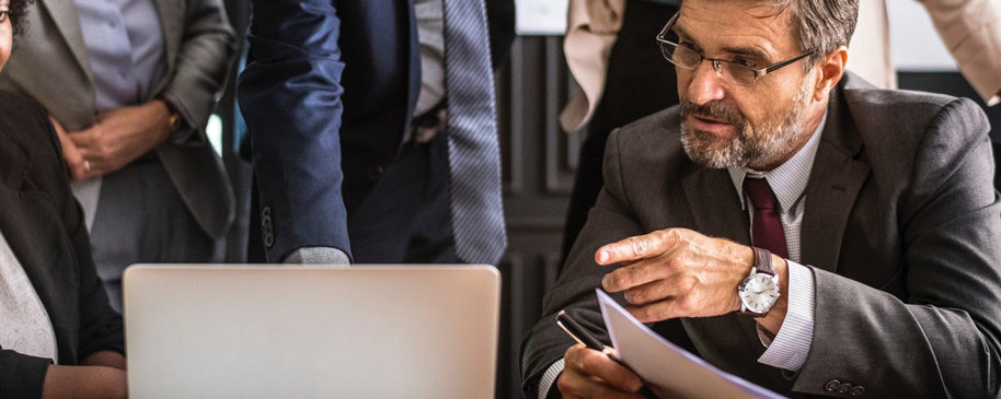
[{"label": "black trousers of person in beige jacket behind the bearded man", "polygon": [[580,162],[563,230],[564,261],[584,228],[587,212],[595,206],[605,185],[601,164],[609,133],[678,104],[675,66],[664,59],[654,40],[677,11],[675,5],[638,0],[625,2],[622,30],[609,56],[605,94],[588,124],[587,139],[580,148]]}]

